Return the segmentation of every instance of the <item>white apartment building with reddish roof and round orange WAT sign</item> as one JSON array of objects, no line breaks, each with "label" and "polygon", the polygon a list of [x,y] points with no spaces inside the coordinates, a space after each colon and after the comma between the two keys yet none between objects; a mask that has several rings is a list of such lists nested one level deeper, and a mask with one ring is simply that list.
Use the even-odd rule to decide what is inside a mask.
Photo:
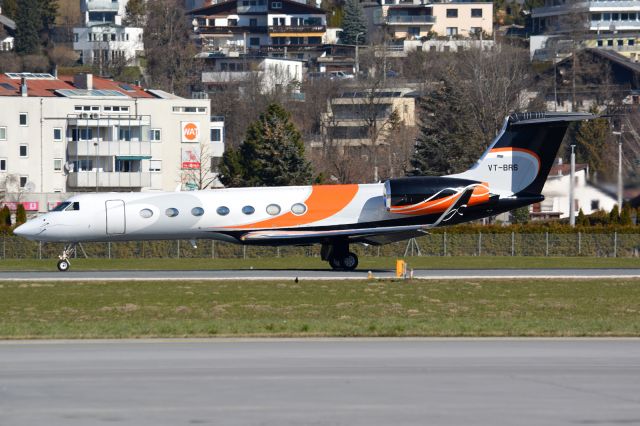
[{"label": "white apartment building with reddish roof and round orange WAT sign", "polygon": [[2,74],[1,189],[47,211],[65,193],[189,187],[224,151],[209,104],[91,74]]}]

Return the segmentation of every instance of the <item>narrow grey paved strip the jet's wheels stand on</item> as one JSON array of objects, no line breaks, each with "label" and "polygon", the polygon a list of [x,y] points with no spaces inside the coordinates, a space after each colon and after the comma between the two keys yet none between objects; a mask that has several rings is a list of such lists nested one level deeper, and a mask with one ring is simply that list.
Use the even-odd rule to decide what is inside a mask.
[{"label": "narrow grey paved strip the jet's wheels stand on", "polygon": [[[373,270],[376,278],[395,277],[395,271]],[[336,272],[331,270],[209,270],[209,271],[68,271],[68,272],[0,272],[5,280],[262,280],[262,279],[365,279],[368,271]],[[640,269],[417,269],[420,279],[468,278],[640,278]]]}]

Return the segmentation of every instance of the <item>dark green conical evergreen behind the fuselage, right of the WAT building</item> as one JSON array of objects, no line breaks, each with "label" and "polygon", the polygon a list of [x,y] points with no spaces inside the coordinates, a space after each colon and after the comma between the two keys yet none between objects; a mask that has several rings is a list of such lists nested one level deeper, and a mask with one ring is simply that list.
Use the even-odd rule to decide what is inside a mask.
[{"label": "dark green conical evergreen behind the fuselage, right of the WAT building", "polygon": [[311,164],[304,158],[302,135],[291,115],[280,105],[270,104],[249,125],[239,150],[225,153],[221,174],[226,186],[310,184]]}]

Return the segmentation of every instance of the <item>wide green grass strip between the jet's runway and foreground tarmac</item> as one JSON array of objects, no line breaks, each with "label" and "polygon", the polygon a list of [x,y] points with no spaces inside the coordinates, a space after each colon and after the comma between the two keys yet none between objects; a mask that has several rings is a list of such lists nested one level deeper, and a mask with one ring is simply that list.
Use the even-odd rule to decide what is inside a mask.
[{"label": "wide green grass strip between the jet's runway and foreground tarmac", "polygon": [[640,280],[0,282],[0,338],[640,336]]}]

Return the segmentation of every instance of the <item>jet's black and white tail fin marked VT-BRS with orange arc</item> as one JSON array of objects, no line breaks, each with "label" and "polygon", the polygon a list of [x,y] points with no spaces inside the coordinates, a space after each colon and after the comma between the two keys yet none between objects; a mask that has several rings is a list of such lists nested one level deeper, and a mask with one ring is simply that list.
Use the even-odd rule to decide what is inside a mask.
[{"label": "jet's black and white tail fin marked VT-BRS with orange arc", "polygon": [[455,177],[486,182],[491,192],[540,194],[569,124],[591,118],[583,113],[512,114],[480,160]]}]

